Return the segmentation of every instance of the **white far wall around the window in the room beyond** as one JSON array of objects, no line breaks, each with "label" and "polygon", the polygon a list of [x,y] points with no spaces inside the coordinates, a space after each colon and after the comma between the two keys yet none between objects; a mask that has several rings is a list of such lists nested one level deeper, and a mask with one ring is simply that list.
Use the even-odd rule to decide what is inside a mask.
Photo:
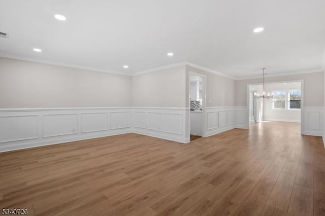
[{"label": "white far wall around the window in the room beyond", "polygon": [[[272,93],[276,90],[298,90],[301,89],[300,82],[296,83],[274,83],[266,84],[265,92]],[[285,122],[300,122],[300,110],[279,110],[273,109],[273,100],[264,99],[264,120],[265,121],[285,121]]]}]

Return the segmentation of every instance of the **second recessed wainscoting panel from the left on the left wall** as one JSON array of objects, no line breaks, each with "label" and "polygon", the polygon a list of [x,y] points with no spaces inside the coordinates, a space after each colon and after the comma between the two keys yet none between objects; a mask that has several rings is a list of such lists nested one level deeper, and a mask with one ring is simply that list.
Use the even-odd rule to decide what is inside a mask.
[{"label": "second recessed wainscoting panel from the left on the left wall", "polygon": [[43,115],[43,128],[43,137],[78,133],[78,116],[77,114]]}]

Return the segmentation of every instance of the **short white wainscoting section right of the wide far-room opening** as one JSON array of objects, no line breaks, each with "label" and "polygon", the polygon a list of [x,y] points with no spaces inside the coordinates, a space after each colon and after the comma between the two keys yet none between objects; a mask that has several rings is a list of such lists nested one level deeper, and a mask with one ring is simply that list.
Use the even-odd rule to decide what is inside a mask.
[{"label": "short white wainscoting section right of the wide far-room opening", "polygon": [[304,107],[304,134],[322,136],[324,127],[324,108]]}]

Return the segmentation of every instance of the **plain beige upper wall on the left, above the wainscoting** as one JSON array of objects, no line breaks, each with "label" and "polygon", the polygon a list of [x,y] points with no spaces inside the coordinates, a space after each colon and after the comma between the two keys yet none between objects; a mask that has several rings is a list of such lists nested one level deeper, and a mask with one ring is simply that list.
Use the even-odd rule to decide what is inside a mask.
[{"label": "plain beige upper wall on the left, above the wainscoting", "polygon": [[131,106],[132,77],[0,57],[0,108]]}]

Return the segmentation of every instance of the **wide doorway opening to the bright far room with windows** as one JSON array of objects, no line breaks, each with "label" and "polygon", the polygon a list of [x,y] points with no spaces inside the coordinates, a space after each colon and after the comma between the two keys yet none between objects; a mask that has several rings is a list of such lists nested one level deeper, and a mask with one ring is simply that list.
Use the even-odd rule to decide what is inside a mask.
[{"label": "wide doorway opening to the bright far room with windows", "polygon": [[[303,81],[286,81],[249,84],[247,88],[249,125],[256,122],[294,122],[300,124],[303,134]],[[272,99],[255,98],[255,95],[273,95]]]}]

